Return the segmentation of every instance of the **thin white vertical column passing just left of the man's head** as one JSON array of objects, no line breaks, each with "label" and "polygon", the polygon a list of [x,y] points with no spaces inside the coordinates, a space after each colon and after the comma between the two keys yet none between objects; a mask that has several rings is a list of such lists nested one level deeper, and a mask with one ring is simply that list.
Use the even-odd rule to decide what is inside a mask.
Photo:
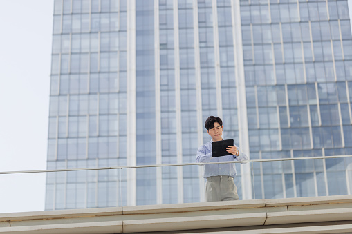
[{"label": "thin white vertical column passing just left of the man's head", "polygon": [[[198,0],[193,0],[193,27],[194,27],[194,68],[196,77],[196,106],[197,106],[197,133],[198,146],[203,145],[203,113],[202,113],[202,90],[201,90],[201,54],[199,52],[199,27],[198,27]],[[204,166],[199,168],[199,189],[201,201],[205,200],[205,187],[203,180]]]}]

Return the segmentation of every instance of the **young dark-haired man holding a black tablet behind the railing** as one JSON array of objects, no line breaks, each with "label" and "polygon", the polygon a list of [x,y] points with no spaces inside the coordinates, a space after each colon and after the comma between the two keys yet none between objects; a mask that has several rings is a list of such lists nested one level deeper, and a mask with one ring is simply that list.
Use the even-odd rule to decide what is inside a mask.
[{"label": "young dark-haired man holding a black tablet behind the railing", "polygon": [[[239,150],[236,145],[228,146],[226,151],[232,155],[212,157],[212,142],[223,140],[223,121],[219,117],[210,116],[205,121],[207,133],[212,137],[210,142],[198,148],[196,162],[239,162],[248,160],[246,154]],[[244,163],[243,163],[244,164]],[[239,199],[237,188],[234,185],[236,175],[235,164],[205,164],[203,177],[207,179],[205,184],[205,200],[207,202],[229,201]]]}]

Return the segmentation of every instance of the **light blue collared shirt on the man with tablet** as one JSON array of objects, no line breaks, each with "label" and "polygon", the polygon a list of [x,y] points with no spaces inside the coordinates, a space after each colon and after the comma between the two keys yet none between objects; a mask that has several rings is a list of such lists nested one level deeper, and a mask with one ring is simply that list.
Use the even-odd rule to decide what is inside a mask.
[{"label": "light blue collared shirt on the man with tablet", "polygon": [[[221,157],[212,157],[212,140],[200,146],[197,151],[196,162],[224,162],[224,161],[234,161],[239,162],[248,160],[248,156],[239,150],[239,147],[236,146],[239,150],[239,156],[235,155],[226,155]],[[242,164],[245,164],[242,163]],[[216,175],[230,175],[234,177],[236,175],[236,166],[235,164],[205,164],[204,165],[204,178]]]}]

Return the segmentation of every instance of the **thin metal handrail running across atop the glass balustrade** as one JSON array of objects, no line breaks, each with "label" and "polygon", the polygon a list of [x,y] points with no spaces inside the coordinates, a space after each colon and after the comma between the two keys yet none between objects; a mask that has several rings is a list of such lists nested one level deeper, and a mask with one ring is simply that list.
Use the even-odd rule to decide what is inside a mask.
[{"label": "thin metal handrail running across atop the glass balustrade", "polygon": [[295,161],[295,160],[308,160],[308,159],[334,159],[352,157],[352,155],[335,155],[335,156],[324,156],[324,157],[290,157],[284,159],[255,159],[247,161],[225,161],[225,162],[205,162],[205,163],[188,163],[188,164],[154,164],[154,165],[138,165],[138,166],[111,166],[111,167],[100,167],[100,168],[72,168],[72,169],[56,169],[56,170],[19,170],[19,171],[3,171],[0,175],[4,174],[24,174],[24,173],[56,173],[62,171],[77,171],[77,170],[112,170],[112,169],[129,169],[129,168],[149,168],[149,167],[163,167],[163,166],[203,166],[206,164],[239,164],[247,162],[277,162],[277,161]]}]

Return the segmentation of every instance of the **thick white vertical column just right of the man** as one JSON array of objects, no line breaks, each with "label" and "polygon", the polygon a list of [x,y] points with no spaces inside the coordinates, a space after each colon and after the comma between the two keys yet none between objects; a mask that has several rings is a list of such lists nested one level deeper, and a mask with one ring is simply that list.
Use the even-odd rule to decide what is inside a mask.
[{"label": "thick white vertical column just right of the man", "polygon": [[[231,0],[232,35],[234,35],[234,72],[237,86],[237,117],[239,119],[239,145],[250,156],[248,137],[248,118],[246,100],[246,81],[244,77],[243,46],[241,31],[241,11],[239,1]],[[252,199],[252,176],[250,164],[241,164],[243,199]]]}]

